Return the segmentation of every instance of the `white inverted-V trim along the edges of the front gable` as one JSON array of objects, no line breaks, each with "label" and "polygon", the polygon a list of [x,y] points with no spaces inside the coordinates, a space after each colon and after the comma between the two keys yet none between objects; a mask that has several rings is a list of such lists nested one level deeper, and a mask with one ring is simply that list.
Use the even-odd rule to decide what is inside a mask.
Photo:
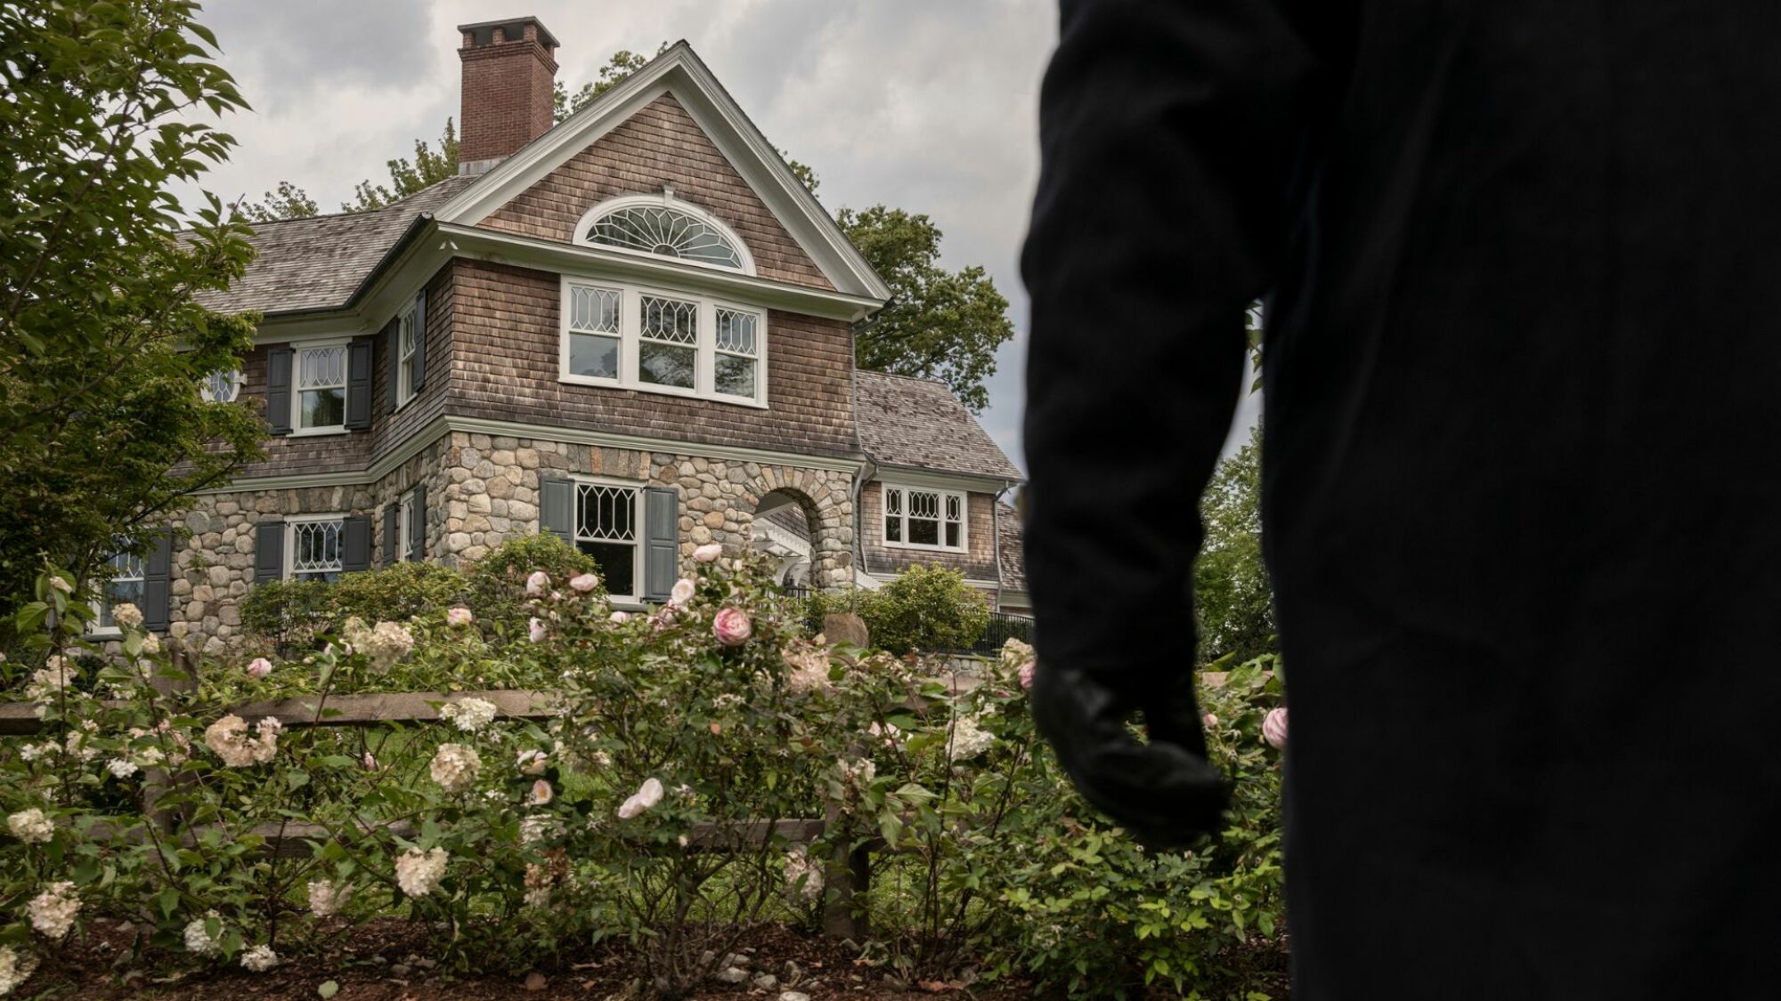
[{"label": "white inverted-V trim along the edges of the front gable", "polygon": [[527,142],[452,196],[435,217],[463,226],[481,223],[663,94],[673,94],[680,102],[837,290],[880,301],[890,297],[890,289],[848,242],[841,226],[684,41]]}]

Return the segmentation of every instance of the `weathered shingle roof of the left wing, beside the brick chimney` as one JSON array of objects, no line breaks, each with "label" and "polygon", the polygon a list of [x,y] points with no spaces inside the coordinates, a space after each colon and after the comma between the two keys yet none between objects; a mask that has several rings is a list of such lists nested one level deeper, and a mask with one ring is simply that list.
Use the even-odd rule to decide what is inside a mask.
[{"label": "weathered shingle roof of the left wing, beside the brick chimney", "polygon": [[256,223],[251,242],[258,256],[248,274],[228,292],[207,292],[199,301],[212,310],[262,313],[346,306],[417,216],[474,180],[445,178],[376,212]]}]

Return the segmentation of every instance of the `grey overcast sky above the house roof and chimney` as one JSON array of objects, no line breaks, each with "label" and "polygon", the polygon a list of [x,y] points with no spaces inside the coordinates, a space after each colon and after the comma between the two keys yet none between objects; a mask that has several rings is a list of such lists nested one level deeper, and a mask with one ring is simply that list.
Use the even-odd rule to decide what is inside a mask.
[{"label": "grey overcast sky above the house roof and chimney", "polygon": [[338,210],[458,116],[454,27],[520,14],[557,37],[570,89],[614,50],[684,37],[755,125],[816,169],[830,212],[882,201],[931,216],[946,265],[981,264],[1013,306],[981,420],[1026,465],[1019,253],[1054,0],[210,0],[199,20],[253,112],[226,119],[240,148],[205,187],[258,198],[290,180]]}]

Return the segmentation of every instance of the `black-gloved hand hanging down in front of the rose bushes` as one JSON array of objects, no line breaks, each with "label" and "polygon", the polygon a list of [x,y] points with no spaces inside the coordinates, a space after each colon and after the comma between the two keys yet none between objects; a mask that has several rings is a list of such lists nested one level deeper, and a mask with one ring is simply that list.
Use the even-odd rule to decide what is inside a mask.
[{"label": "black-gloved hand hanging down in front of the rose bushes", "polygon": [[[1031,705],[1076,791],[1142,844],[1183,848],[1218,830],[1231,791],[1206,761],[1191,673],[1165,682],[1040,661]],[[1134,714],[1149,743],[1126,727]]]}]

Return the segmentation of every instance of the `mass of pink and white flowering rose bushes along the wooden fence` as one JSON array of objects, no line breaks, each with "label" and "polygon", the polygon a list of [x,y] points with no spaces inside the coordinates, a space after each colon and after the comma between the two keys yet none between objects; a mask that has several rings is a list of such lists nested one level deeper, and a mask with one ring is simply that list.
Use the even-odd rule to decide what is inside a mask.
[{"label": "mass of pink and white flowering rose bushes along the wooden fence", "polygon": [[[459,971],[620,939],[645,992],[675,996],[757,924],[841,907],[832,866],[864,848],[880,871],[853,899],[874,924],[867,962],[1072,996],[1254,989],[1232,946],[1272,937],[1281,912],[1268,664],[1204,693],[1240,778],[1229,828],[1149,855],[1037,739],[1031,648],[937,679],[807,638],[755,557],[702,550],[693,568],[634,614],[586,566],[502,572],[524,634],[492,641],[481,613],[438,607],[242,664],[157,652],[128,614],[112,648],[87,647],[91,613],[46,575],[16,616],[34,666],[0,666],[43,720],[0,741],[0,994],[100,916],[251,974],[326,923],[395,914]],[[513,718],[483,688],[554,702]],[[353,691],[438,693],[438,721],[317,725]],[[276,698],[299,709],[237,711]],[[817,841],[778,823],[801,818],[828,821]]]}]

